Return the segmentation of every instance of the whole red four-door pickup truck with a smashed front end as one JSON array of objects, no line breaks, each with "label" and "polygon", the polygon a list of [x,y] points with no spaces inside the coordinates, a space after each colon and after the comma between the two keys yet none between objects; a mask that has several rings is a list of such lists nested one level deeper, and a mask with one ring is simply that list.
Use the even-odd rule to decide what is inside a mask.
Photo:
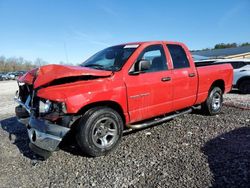
[{"label": "whole red four-door pickup truck with a smashed front end", "polygon": [[135,42],[106,48],[80,66],[46,65],[18,79],[18,120],[40,155],[73,128],[90,156],[114,149],[126,131],[190,113],[214,115],[232,87],[230,64],[196,67],[178,42]]}]

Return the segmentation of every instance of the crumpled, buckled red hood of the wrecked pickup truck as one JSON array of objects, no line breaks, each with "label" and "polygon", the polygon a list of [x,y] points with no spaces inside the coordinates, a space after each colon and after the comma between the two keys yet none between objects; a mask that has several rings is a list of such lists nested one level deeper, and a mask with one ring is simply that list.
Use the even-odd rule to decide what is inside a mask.
[{"label": "crumpled, buckled red hood of the wrecked pickup truck", "polygon": [[66,65],[45,65],[39,69],[33,69],[18,79],[19,82],[31,84],[34,80],[34,88],[38,88],[60,78],[69,78],[77,76],[96,76],[106,77],[110,76],[112,71],[96,70],[80,66],[66,66]]}]

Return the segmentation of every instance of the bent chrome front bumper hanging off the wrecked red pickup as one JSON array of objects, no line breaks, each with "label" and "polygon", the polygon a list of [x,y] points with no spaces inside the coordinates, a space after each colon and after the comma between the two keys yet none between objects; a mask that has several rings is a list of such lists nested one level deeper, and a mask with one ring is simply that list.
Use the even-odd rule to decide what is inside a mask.
[{"label": "bent chrome front bumper hanging off the wrecked red pickup", "polygon": [[[55,151],[70,129],[35,117],[27,101],[25,104],[18,98],[15,98],[15,101],[19,104],[16,107],[17,120],[26,125],[30,142],[40,149]],[[23,112],[24,110],[27,114]]]}]

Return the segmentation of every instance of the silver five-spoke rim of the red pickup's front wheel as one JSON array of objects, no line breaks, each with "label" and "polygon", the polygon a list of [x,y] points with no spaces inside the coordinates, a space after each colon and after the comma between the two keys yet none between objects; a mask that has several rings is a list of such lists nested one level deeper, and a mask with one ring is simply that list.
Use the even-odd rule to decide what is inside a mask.
[{"label": "silver five-spoke rim of the red pickup's front wheel", "polygon": [[98,120],[92,131],[92,140],[99,148],[107,148],[116,142],[118,136],[117,123],[110,117]]}]

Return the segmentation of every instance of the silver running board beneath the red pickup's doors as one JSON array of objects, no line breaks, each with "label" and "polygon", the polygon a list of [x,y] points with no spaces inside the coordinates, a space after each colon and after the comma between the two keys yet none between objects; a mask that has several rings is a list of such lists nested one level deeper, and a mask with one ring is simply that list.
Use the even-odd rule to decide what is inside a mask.
[{"label": "silver running board beneath the red pickup's doors", "polygon": [[182,112],[177,112],[176,114],[165,116],[163,118],[157,118],[157,119],[154,119],[154,120],[150,120],[150,121],[147,121],[147,122],[144,122],[144,123],[141,123],[141,124],[127,125],[127,127],[129,129],[127,131],[124,130],[124,132],[130,132],[132,130],[137,130],[137,129],[144,129],[144,128],[150,127],[152,125],[155,125],[155,124],[162,123],[164,121],[173,119],[175,117],[178,117],[178,116],[181,116],[181,115],[184,115],[184,114],[189,114],[191,112],[192,112],[192,108],[190,108],[188,110],[185,110],[185,111],[182,111]]}]

